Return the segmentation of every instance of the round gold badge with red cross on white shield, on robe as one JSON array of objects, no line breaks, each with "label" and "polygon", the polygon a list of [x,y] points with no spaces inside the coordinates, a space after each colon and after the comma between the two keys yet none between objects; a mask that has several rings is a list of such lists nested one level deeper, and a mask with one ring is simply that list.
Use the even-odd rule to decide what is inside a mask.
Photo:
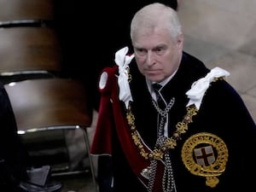
[{"label": "round gold badge with red cross on white shield, on robe", "polygon": [[192,174],[206,177],[207,186],[218,184],[228,161],[228,148],[224,141],[208,132],[189,137],[182,148],[183,164]]}]

